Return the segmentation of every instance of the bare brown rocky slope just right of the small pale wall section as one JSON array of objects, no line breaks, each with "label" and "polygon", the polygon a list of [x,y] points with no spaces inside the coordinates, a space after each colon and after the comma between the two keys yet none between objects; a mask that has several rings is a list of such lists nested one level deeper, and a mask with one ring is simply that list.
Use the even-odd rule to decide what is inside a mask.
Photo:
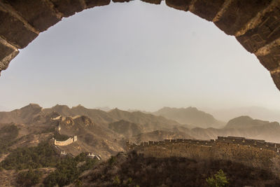
[{"label": "bare brown rocky slope just right of the small pale wall section", "polygon": [[94,123],[87,116],[66,117],[60,127],[59,133],[78,137],[78,141],[75,143],[69,146],[60,146],[67,153],[78,155],[80,152],[92,152],[105,159],[118,151],[124,151],[125,141],[122,134]]}]

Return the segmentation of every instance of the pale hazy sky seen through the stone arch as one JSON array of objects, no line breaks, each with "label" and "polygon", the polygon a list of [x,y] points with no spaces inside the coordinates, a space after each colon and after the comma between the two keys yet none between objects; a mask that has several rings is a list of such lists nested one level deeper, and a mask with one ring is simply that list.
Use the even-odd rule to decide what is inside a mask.
[{"label": "pale hazy sky seen through the stone arch", "polygon": [[64,18],[0,77],[0,106],[38,103],[154,111],[162,106],[280,109],[269,72],[213,23],[132,1]]}]

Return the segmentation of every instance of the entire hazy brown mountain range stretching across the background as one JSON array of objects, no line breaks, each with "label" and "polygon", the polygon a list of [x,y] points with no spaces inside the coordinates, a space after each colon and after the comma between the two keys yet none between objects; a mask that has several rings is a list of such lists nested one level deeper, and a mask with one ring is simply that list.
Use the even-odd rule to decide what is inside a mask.
[{"label": "entire hazy brown mountain range stretching across the background", "polygon": [[64,151],[73,155],[90,151],[102,155],[102,158],[109,158],[114,153],[123,151],[127,140],[139,144],[141,141],[163,139],[237,136],[280,142],[280,125],[277,122],[239,116],[225,124],[211,114],[193,107],[165,107],[153,114],[120,109],[106,112],[87,109],[81,105],[72,108],[56,105],[43,109],[38,104],[29,104],[21,109],[0,112],[0,129],[11,124],[19,128],[17,138],[20,141],[15,141],[10,148],[34,146],[39,141],[54,136],[58,121],[52,119],[57,116],[63,117],[60,134],[78,136],[78,141],[63,147]]}]

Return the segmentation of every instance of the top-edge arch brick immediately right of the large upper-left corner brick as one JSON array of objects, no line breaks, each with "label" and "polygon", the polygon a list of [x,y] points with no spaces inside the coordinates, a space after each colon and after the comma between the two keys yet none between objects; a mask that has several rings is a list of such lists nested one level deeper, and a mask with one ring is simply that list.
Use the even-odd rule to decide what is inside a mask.
[{"label": "top-edge arch brick immediately right of the large upper-left corner brick", "polygon": [[83,11],[83,6],[80,4],[80,0],[51,0],[52,4],[60,13],[63,13],[64,17],[69,17],[75,13]]}]

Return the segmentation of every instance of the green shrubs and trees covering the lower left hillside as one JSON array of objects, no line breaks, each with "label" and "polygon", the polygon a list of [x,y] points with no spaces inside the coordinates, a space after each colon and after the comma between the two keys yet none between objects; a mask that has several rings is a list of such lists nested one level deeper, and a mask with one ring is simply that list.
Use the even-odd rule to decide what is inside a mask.
[{"label": "green shrubs and trees covering the lower left hillside", "polygon": [[18,172],[15,176],[19,186],[33,186],[41,181],[42,174],[38,169],[54,167],[55,171],[50,172],[43,180],[44,186],[65,186],[76,181],[82,172],[92,168],[97,162],[98,160],[87,157],[86,153],[80,153],[75,158],[60,157],[55,153],[53,146],[48,142],[42,142],[38,146],[17,148],[12,151],[0,162],[0,171],[29,169]]}]

